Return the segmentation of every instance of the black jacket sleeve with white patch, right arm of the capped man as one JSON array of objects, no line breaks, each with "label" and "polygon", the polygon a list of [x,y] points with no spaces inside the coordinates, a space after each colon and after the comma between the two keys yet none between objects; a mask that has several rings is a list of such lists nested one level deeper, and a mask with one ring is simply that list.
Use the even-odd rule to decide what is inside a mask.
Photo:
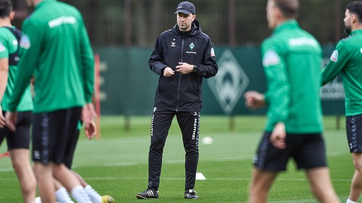
[{"label": "black jacket sleeve with white patch, right arm of the capped man", "polygon": [[198,68],[198,74],[203,78],[211,78],[218,73],[218,65],[215,59],[215,51],[214,46],[211,42],[211,39],[207,39],[207,43],[205,45],[204,56],[202,60],[202,64],[195,64]]}]

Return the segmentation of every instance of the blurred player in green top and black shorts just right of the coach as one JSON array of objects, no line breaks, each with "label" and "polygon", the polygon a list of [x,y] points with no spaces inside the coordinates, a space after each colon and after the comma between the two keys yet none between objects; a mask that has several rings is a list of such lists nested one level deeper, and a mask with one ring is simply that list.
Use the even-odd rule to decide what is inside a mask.
[{"label": "blurred player in green top and black shorts just right of the coach", "polygon": [[[267,92],[246,92],[250,109],[268,106],[267,125],[253,160],[249,202],[267,202],[279,172],[290,158],[305,170],[313,195],[339,202],[327,168],[322,138],[320,64],[317,40],[300,29],[298,0],[268,0],[267,20],[273,34],[262,43]],[[286,188],[288,190],[288,188]]]}]

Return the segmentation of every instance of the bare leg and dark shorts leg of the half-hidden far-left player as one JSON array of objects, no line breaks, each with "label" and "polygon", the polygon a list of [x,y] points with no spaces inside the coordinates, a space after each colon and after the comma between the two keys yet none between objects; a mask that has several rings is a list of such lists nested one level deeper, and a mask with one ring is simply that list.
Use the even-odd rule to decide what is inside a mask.
[{"label": "bare leg and dark shorts leg of the half-hidden far-left player", "polygon": [[30,111],[18,112],[16,132],[6,134],[8,152],[16,176],[18,176],[24,202],[33,202],[36,195],[36,180],[30,164]]}]

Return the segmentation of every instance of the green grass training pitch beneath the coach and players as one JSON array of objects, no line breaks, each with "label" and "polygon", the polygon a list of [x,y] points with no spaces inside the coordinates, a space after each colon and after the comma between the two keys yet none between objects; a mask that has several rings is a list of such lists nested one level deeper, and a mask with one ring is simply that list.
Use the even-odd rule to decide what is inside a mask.
[{"label": "green grass training pitch beneath the coach and players", "polygon": [[[130,129],[124,130],[124,117],[103,116],[101,137],[78,142],[74,171],[83,176],[98,192],[112,195],[116,202],[142,202],[135,194],[146,189],[148,183],[148,147],[150,116],[134,116]],[[206,180],[197,180],[195,190],[199,202],[247,202],[251,161],[262,135],[264,117],[235,117],[234,130],[230,118],[202,116],[200,124],[198,172]],[[151,202],[187,202],[184,159],[180,130],[174,120],[163,153],[159,199]],[[336,118],[325,118],[325,140],[332,183],[342,202],[349,195],[354,173],[344,131],[336,130]],[[210,136],[212,144],[202,144]],[[6,151],[6,143],[0,152]],[[192,201],[192,200],[191,200]],[[0,202],[22,202],[18,180],[9,158],[0,159]],[[292,162],[286,173],[276,179],[268,202],[316,202],[310,194],[303,171],[296,171]]]}]

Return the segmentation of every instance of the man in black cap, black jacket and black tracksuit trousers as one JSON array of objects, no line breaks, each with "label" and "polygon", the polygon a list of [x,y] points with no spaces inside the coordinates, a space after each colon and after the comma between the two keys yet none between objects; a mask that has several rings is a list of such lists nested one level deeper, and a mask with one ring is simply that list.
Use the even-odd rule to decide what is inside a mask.
[{"label": "man in black cap, black jacket and black tracksuit trousers", "polygon": [[185,199],[199,199],[194,184],[199,160],[199,117],[202,107],[202,78],[216,75],[218,66],[213,44],[195,20],[189,1],[176,8],[177,24],[161,33],[148,61],[160,75],[151,121],[148,154],[148,188],[139,199],[158,198],[163,147],[168,130],[177,117],[185,147]]}]

